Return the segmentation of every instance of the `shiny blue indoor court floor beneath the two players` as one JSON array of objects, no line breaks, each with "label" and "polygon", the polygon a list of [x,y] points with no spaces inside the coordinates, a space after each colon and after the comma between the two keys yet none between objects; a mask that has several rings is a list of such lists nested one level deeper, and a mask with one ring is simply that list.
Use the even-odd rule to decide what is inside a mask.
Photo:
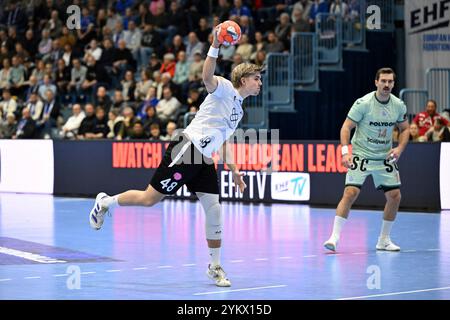
[{"label": "shiny blue indoor court floor beneath the two players", "polygon": [[336,254],[334,210],[223,203],[222,261],[205,275],[198,202],[118,207],[92,230],[93,199],[0,194],[0,299],[450,299],[450,212],[401,212],[399,253],[376,252],[380,211],[353,210]]}]

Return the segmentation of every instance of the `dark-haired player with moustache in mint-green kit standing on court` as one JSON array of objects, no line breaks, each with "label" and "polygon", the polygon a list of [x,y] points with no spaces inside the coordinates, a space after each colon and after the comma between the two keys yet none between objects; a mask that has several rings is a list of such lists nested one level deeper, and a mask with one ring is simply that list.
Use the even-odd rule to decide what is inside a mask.
[{"label": "dark-haired player with moustache in mint-green kit standing on court", "polygon": [[[336,208],[333,232],[324,243],[325,248],[336,251],[341,229],[347,221],[351,206],[358,198],[360,188],[369,175],[375,187],[386,196],[383,223],[376,245],[377,250],[399,251],[390,239],[392,224],[400,205],[400,175],[397,160],[409,140],[406,106],[391,94],[395,73],[382,68],[375,76],[377,90],[358,99],[350,109],[341,128],[342,164],[348,168],[344,195]],[[399,143],[392,148],[392,131],[400,129]],[[349,153],[350,132],[356,128]]]}]

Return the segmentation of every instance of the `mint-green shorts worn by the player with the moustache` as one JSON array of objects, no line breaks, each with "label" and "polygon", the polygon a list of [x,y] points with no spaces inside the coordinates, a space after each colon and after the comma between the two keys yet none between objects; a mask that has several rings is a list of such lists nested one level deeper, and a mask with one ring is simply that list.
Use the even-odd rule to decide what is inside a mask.
[{"label": "mint-green shorts worn by the player with the moustache", "polygon": [[345,177],[345,186],[361,188],[369,175],[372,175],[375,188],[378,190],[386,192],[401,186],[397,163],[364,159],[358,155],[352,157],[352,166]]}]

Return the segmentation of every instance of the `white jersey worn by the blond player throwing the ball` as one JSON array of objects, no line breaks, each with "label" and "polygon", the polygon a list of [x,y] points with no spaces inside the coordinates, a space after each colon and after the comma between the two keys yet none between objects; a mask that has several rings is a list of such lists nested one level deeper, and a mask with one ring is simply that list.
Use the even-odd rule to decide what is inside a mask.
[{"label": "white jersey worn by the blond player throwing the ball", "polygon": [[244,99],[231,81],[222,77],[217,79],[216,90],[206,96],[194,119],[183,131],[194,146],[209,158],[234,133],[244,115]]}]

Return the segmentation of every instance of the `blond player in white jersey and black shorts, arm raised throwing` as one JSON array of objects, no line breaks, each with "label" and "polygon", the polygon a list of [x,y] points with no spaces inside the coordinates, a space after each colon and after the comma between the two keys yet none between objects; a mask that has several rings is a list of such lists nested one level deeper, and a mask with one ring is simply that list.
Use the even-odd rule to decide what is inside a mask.
[{"label": "blond player in white jersey and black shorts, arm raised throwing", "polygon": [[210,263],[207,275],[217,286],[229,287],[220,264],[222,238],[222,210],[219,203],[217,172],[211,159],[219,152],[233,172],[234,183],[243,192],[246,185],[234,163],[226,140],[234,133],[243,116],[242,102],[248,96],[256,96],[261,89],[261,67],[242,63],[231,72],[231,81],[214,75],[220,44],[217,28],[214,40],[203,66],[203,82],[208,96],[201,104],[195,118],[168,146],[163,160],[145,191],[128,190],[109,196],[97,195],[89,215],[90,225],[98,230],[104,215],[114,206],[153,206],[166,195],[173,195],[186,185],[197,195],[205,211],[206,241]]}]

